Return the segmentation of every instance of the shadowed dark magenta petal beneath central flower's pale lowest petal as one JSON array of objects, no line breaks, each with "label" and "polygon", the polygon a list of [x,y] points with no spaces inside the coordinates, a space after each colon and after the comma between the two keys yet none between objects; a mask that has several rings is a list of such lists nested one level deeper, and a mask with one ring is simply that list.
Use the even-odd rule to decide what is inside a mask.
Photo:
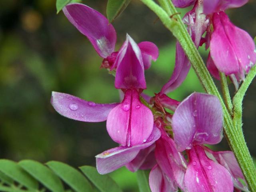
[{"label": "shadowed dark magenta petal beneath central flower's pale lowest petal", "polygon": [[[154,158],[155,144],[140,150],[136,158],[126,164],[126,168],[131,172],[136,172],[138,169],[151,169],[156,164],[156,159]],[[142,168],[141,168],[142,167]]]}]

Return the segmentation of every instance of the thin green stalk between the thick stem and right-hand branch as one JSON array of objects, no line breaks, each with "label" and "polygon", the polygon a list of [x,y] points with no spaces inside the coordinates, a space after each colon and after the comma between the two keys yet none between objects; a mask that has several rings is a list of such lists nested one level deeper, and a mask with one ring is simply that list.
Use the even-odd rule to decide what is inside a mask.
[{"label": "thin green stalk between the thick stem and right-hand branch", "polygon": [[232,105],[229,90],[228,90],[227,79],[224,73],[220,72],[219,74],[220,74],[220,83],[221,83],[224,102],[226,104],[226,108],[228,109],[230,116],[233,116],[233,105]]}]

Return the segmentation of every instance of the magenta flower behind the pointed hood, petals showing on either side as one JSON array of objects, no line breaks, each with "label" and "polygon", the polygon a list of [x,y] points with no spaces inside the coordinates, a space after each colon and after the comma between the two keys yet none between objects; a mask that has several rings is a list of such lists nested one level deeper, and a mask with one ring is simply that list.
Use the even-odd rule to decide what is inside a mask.
[{"label": "magenta flower behind the pointed hood, petals showing on either side", "polygon": [[[116,31],[108,19],[98,11],[80,3],[70,3],[63,8],[68,20],[84,34],[94,46],[96,52],[104,58],[102,67],[113,69],[118,52],[115,52]],[[139,44],[145,69],[151,60],[158,58],[158,48],[152,42]]]}]

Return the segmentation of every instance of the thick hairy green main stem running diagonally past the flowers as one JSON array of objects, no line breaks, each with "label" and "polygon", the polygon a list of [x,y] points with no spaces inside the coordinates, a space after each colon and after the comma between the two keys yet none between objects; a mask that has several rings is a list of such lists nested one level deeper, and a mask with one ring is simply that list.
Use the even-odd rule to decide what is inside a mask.
[{"label": "thick hairy green main stem running diagonally past the flowers", "polygon": [[[171,14],[177,14],[170,18],[158,4],[152,0],[141,0],[148,8],[150,8],[155,14],[160,18],[164,26],[172,32],[172,34],[178,39],[184,52],[186,53],[193,69],[196,72],[202,86],[208,94],[216,95],[222,104],[223,114],[224,114],[224,133],[228,140],[231,150],[234,152],[236,159],[244,173],[246,181],[251,191],[256,191],[256,168],[252,163],[252,158],[250,156],[249,150],[246,146],[244,136],[242,133],[242,127],[235,128],[233,120],[224,104],[220,93],[216,85],[214,84],[210,73],[208,72],[196,46],[192,42],[186,26],[182,22],[180,16],[177,14],[174,5],[170,0],[166,1],[168,3],[169,11]],[[164,6],[165,9],[168,7]]]}]

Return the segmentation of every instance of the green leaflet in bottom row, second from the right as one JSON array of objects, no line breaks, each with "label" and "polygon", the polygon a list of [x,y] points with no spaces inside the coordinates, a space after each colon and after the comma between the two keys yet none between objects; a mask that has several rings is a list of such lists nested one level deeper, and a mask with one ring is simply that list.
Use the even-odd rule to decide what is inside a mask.
[{"label": "green leaflet in bottom row, second from the right", "polygon": [[92,191],[88,180],[75,168],[57,161],[49,161],[46,165],[75,191]]}]

